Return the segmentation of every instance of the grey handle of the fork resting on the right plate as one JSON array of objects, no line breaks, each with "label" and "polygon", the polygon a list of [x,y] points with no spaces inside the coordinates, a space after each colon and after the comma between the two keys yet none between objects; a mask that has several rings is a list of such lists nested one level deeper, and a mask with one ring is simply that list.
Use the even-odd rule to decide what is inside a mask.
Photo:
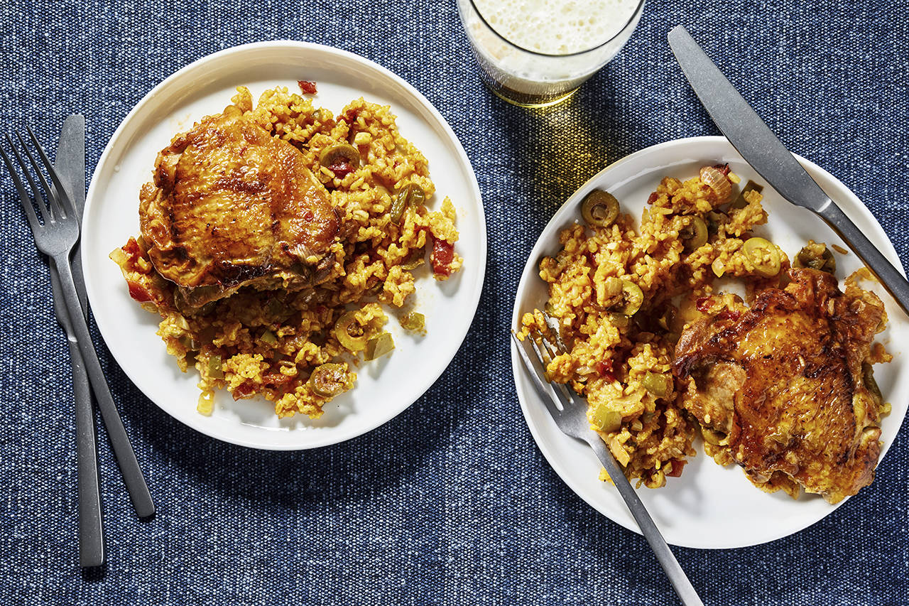
[{"label": "grey handle of the fork resting on the right plate", "polygon": [[694,591],[694,586],[688,580],[688,576],[682,570],[682,566],[675,559],[660,530],[656,528],[653,518],[647,513],[641,498],[637,496],[637,492],[632,488],[631,482],[624,477],[624,473],[619,469],[612,452],[606,449],[604,441],[595,433],[592,433],[592,436],[584,441],[590,445],[590,448],[594,449],[596,458],[606,468],[606,473],[609,474],[615,488],[622,495],[625,505],[628,506],[628,510],[631,511],[631,515],[634,517],[634,521],[637,522],[638,527],[644,534],[644,539],[650,543],[650,548],[654,550],[656,560],[660,562],[660,566],[663,567],[666,576],[669,577],[669,582],[672,583],[679,600],[682,601],[684,606],[704,606],[704,602],[697,595],[697,591]]}]

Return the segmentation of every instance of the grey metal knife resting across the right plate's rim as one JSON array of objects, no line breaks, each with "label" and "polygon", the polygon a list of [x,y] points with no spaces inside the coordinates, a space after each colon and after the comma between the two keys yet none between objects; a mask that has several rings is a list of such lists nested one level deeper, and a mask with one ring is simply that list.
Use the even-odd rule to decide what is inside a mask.
[{"label": "grey metal knife resting across the right plate's rim", "polygon": [[824,219],[909,315],[909,281],[903,274],[808,175],[687,30],[676,25],[668,37],[694,94],[744,160],[782,197]]}]

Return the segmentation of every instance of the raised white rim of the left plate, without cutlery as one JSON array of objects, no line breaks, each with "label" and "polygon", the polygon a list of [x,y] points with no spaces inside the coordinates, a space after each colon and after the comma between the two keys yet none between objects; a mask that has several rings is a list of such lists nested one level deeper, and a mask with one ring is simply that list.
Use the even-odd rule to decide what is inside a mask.
[{"label": "raised white rim of the left plate, without cutlery", "polygon": [[[411,406],[413,406],[418,399],[423,398],[426,391],[431,389],[435,385],[435,383],[438,381],[438,379],[445,373],[445,370],[447,370],[451,366],[451,363],[454,360],[454,357],[456,357],[457,353],[461,350],[461,348],[463,348],[464,340],[467,338],[468,334],[470,333],[470,328],[471,328],[471,326],[473,326],[474,320],[476,318],[476,312],[479,308],[480,300],[483,296],[483,289],[484,289],[484,284],[485,284],[485,273],[486,273],[486,259],[487,259],[487,255],[488,255],[488,235],[487,235],[487,227],[486,227],[485,209],[484,209],[484,204],[483,204],[483,195],[482,195],[482,192],[479,187],[479,183],[476,178],[476,172],[474,171],[474,167],[470,161],[470,158],[467,156],[466,152],[464,151],[464,146],[461,143],[461,140],[454,133],[454,129],[448,123],[448,121],[445,119],[445,116],[443,116],[442,113],[432,103],[430,103],[430,101],[420,91],[418,91],[415,88],[415,86],[411,85],[403,77],[398,76],[397,74],[395,74],[395,72],[391,71],[390,69],[386,68],[385,66],[379,65],[375,61],[368,59],[365,56],[360,56],[360,55],[357,55],[350,51],[347,51],[347,50],[344,50],[341,48],[337,48],[337,47],[331,46],[331,45],[322,45],[322,44],[318,44],[315,42],[305,42],[305,41],[290,40],[290,39],[265,40],[265,41],[253,42],[253,43],[248,43],[248,44],[243,44],[243,45],[230,46],[228,48],[221,49],[219,51],[216,51],[215,53],[211,53],[211,54],[201,56],[201,57],[195,59],[194,61],[179,68],[173,74],[165,77],[164,80],[160,81],[158,84],[153,86],[145,94],[145,96],[143,96],[142,99],[140,99],[138,101],[138,103],[136,103],[135,106],[133,106],[133,108],[130,109],[130,111],[126,114],[126,116],[124,116],[124,118],[121,120],[120,124],[117,125],[114,133],[108,139],[108,141],[105,145],[104,151],[102,152],[101,156],[98,158],[97,164],[95,165],[95,169],[92,171],[92,178],[90,181],[90,185],[89,185],[88,190],[85,195],[85,207],[84,207],[83,213],[82,213],[82,221],[83,221],[84,227],[83,227],[81,237],[85,237],[86,235],[91,236],[93,233],[92,227],[91,227],[91,222],[86,219],[88,217],[90,217],[90,213],[93,211],[93,208],[96,206],[96,204],[99,204],[99,203],[95,202],[95,197],[97,196],[98,188],[104,187],[103,185],[99,185],[100,179],[98,177],[101,175],[101,172],[106,167],[106,165],[112,161],[111,157],[114,153],[115,147],[128,148],[130,146],[130,143],[128,141],[125,142],[122,146],[119,145],[120,139],[123,138],[125,131],[135,121],[135,119],[137,119],[137,117],[141,117],[142,113],[145,111],[145,107],[148,106],[155,99],[156,96],[160,95],[162,93],[162,91],[165,91],[170,86],[174,86],[175,81],[182,79],[188,73],[195,72],[200,67],[203,67],[210,62],[220,61],[220,60],[223,60],[225,57],[229,57],[229,56],[242,56],[246,53],[255,53],[255,52],[261,52],[261,51],[265,51],[265,50],[275,50],[275,49],[280,49],[283,47],[293,48],[293,49],[295,49],[295,51],[314,52],[314,53],[325,54],[325,56],[335,56],[335,57],[339,57],[346,61],[351,61],[359,66],[364,67],[365,69],[371,69],[375,73],[377,73],[377,76],[381,76],[381,77],[385,78],[386,80],[390,80],[391,83],[394,83],[396,86],[399,86],[401,91],[403,91],[403,93],[405,94],[405,96],[409,97],[409,100],[414,104],[415,108],[419,108],[423,112],[428,113],[428,116],[432,116],[432,118],[435,120],[435,123],[436,123],[435,126],[437,126],[438,128],[441,129],[441,132],[438,133],[438,135],[440,136],[440,140],[442,140],[446,145],[451,147],[451,150],[458,157],[458,160],[461,162],[463,167],[466,169],[466,173],[469,176],[469,178],[465,182],[465,188],[470,192],[470,195],[475,200],[475,207],[472,207],[471,211],[476,213],[476,215],[477,215],[476,221],[480,227],[479,233],[477,234],[477,249],[480,252],[480,255],[478,256],[478,258],[476,258],[477,274],[476,274],[476,278],[474,280],[474,284],[459,286],[459,288],[475,288],[476,294],[471,303],[472,308],[468,309],[468,315],[466,316],[467,318],[469,318],[469,321],[464,323],[465,325],[464,325],[463,330],[460,331],[461,332],[460,336],[458,337],[455,335],[455,338],[452,339],[451,355],[448,357],[447,363],[445,363],[445,365],[440,364],[438,366],[438,369],[434,373],[432,373],[432,375],[435,375],[435,376],[431,375],[429,378],[431,380],[427,379],[425,381],[425,389],[423,389],[418,394],[416,394],[415,398],[412,401],[407,402],[405,400],[402,400],[402,403],[399,404],[398,406],[390,407],[388,409],[387,415],[379,416],[376,419],[374,419],[372,422],[366,423],[363,426],[355,427],[353,430],[348,429],[345,432],[340,432],[335,435],[328,434],[328,436],[325,436],[323,439],[318,439],[318,438],[311,439],[311,440],[306,441],[305,443],[285,443],[285,442],[274,443],[274,442],[265,441],[264,439],[262,439],[260,441],[256,441],[254,439],[244,439],[241,436],[225,435],[224,433],[222,433],[220,431],[216,431],[216,430],[212,431],[210,429],[206,429],[205,428],[205,419],[208,419],[208,418],[204,417],[202,415],[199,415],[195,411],[195,408],[193,408],[186,415],[178,416],[178,414],[175,413],[176,412],[175,410],[172,411],[171,409],[167,409],[166,407],[164,407],[160,403],[158,403],[155,399],[153,399],[151,396],[146,394],[145,390],[143,390],[139,386],[139,383],[136,381],[136,379],[134,377],[135,373],[126,369],[120,363],[120,360],[116,358],[114,351],[110,350],[111,358],[115,361],[117,366],[124,372],[125,376],[128,379],[130,379],[130,381],[135,386],[135,389],[138,389],[140,392],[142,392],[143,395],[145,396],[145,398],[149,399],[151,402],[153,402],[155,404],[155,407],[163,410],[171,418],[179,421],[180,423],[182,423],[183,425],[185,425],[186,427],[188,427],[190,429],[194,429],[195,431],[199,432],[202,435],[205,435],[208,438],[218,439],[218,440],[226,442],[226,443],[235,444],[238,446],[244,446],[246,448],[262,449],[262,450],[304,450],[304,449],[323,448],[323,447],[332,446],[335,444],[340,444],[347,440],[355,439],[359,436],[364,435],[365,433],[372,431],[373,429],[376,429],[378,427],[381,427],[382,425],[385,425],[385,423],[388,423],[392,419],[395,419],[406,409],[409,409]],[[247,67],[247,69],[248,69],[248,67]],[[389,83],[389,84],[391,84],[391,83]],[[240,83],[240,84],[242,84],[242,83]],[[425,116],[420,116],[420,119],[423,121],[426,121]],[[87,227],[87,229],[85,227]],[[97,301],[101,295],[96,291],[96,288],[98,288],[97,281],[95,279],[93,279],[92,263],[91,263],[91,259],[89,258],[88,247],[82,247],[79,254],[80,254],[80,260],[82,261],[82,266],[83,266],[84,274],[85,274],[85,290],[86,290],[86,293],[88,296],[89,305],[91,306],[91,308],[95,308],[95,306],[93,305],[93,302]],[[102,339],[105,341],[105,346],[106,346],[107,339],[105,338],[105,334],[108,334],[110,332],[110,330],[113,329],[113,327],[108,325],[106,320],[98,321],[98,319],[99,319],[99,317],[95,316],[95,324],[97,325],[98,331],[101,334]],[[105,328],[107,328],[107,329],[105,329]],[[196,419],[196,417],[198,417],[198,419]],[[235,421],[235,423],[241,424],[241,425],[245,424],[242,421],[240,421],[239,419],[237,419]],[[270,429],[270,428],[259,427],[259,429],[262,429],[263,431],[265,431],[264,436],[267,436],[271,432],[274,432],[274,431],[300,432],[300,433],[305,433],[307,435],[311,435],[311,431],[312,431],[312,428]]]}]

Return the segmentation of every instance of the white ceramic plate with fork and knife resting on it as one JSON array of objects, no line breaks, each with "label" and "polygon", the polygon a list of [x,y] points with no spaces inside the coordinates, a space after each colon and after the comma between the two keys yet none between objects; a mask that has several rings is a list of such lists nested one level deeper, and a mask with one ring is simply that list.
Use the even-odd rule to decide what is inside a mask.
[{"label": "white ceramic plate with fork and knife resting on it", "polygon": [[[823,168],[803,158],[799,161],[846,215],[902,271],[893,245],[862,202]],[[684,180],[694,177],[702,166],[725,162],[744,181],[753,179],[764,183],[721,136],[679,139],[648,147],[604,168],[587,181],[555,213],[531,252],[514,301],[512,326],[517,326],[524,311],[543,307],[547,294],[545,284],[537,274],[539,259],[544,255],[553,256],[558,251],[559,231],[580,219],[580,202],[590,190],[608,190],[618,198],[624,212],[640,217],[647,197],[663,177]],[[770,219],[767,225],[755,229],[755,233],[772,237],[790,258],[808,238],[845,247],[821,219],[808,210],[789,204],[771,187],[764,187],[764,208]],[[836,264],[841,283],[842,278],[861,265],[854,254],[837,254]],[[869,288],[867,284],[864,286]],[[878,339],[894,354],[892,363],[874,367],[874,378],[884,398],[893,403],[893,412],[882,422],[881,439],[885,453],[894,441],[905,416],[906,402],[909,401],[909,373],[900,372],[904,369],[903,349],[909,343],[909,321],[882,288],[875,285],[874,290],[884,301],[890,318],[888,328],[878,335]],[[596,510],[625,528],[638,532],[618,492],[613,486],[597,480],[601,466],[593,451],[577,440],[567,438],[555,427],[532,383],[526,378],[514,345],[512,369],[524,419],[556,473]],[[803,495],[799,500],[792,500],[782,492],[766,494],[746,480],[737,466],[720,467],[704,455],[700,443],[694,448],[698,454],[689,460],[681,478],[667,479],[666,486],[659,490],[638,490],[665,539],[674,545],[699,548],[755,545],[802,530],[837,507],[816,495]],[[864,490],[874,490],[874,487]],[[861,499],[862,493],[854,498]]]}]

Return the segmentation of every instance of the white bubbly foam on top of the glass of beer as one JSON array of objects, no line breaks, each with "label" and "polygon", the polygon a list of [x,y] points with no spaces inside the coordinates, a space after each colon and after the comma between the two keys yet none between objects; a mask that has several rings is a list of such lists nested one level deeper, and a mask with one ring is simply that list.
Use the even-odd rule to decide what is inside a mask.
[{"label": "white bubbly foam on top of the glass of beer", "polygon": [[545,55],[580,53],[609,41],[637,0],[474,0],[480,15],[514,45]]}]

